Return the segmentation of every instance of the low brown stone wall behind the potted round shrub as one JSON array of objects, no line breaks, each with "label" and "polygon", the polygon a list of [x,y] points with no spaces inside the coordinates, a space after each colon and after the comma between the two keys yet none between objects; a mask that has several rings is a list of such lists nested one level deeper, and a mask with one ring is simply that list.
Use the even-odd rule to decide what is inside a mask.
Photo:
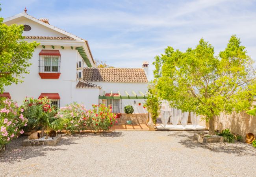
[{"label": "low brown stone wall behind the potted round shrub", "polygon": [[132,120],[132,124],[148,124],[148,114],[121,114],[117,119],[119,125],[126,124],[126,120]]}]

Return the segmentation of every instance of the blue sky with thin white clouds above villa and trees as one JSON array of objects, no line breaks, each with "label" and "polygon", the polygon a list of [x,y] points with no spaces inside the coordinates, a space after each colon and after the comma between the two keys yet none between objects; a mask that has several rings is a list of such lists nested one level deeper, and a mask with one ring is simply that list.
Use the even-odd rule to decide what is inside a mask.
[{"label": "blue sky with thin white clouds above villa and trees", "polygon": [[[93,57],[140,68],[167,46],[182,51],[203,37],[224,50],[236,34],[256,60],[256,0],[0,0],[6,18],[23,11],[89,41]],[[153,78],[150,65],[150,79]]]}]

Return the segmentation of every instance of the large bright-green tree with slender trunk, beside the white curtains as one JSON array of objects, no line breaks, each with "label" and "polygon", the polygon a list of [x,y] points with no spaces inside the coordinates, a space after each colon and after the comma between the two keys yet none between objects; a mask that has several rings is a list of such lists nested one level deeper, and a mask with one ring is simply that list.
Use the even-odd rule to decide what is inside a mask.
[{"label": "large bright-green tree with slender trunk, beside the white curtains", "polygon": [[204,115],[211,135],[214,116],[248,110],[256,95],[254,62],[236,35],[218,56],[214,56],[213,46],[201,39],[195,49],[186,52],[168,46],[155,60],[158,96],[172,107]]}]

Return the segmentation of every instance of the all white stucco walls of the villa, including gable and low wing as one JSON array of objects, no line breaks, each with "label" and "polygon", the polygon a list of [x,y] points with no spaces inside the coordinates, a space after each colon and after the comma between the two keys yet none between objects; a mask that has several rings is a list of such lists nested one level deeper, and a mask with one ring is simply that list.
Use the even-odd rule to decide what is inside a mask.
[{"label": "all white stucco walls of the villa, including gable and low wing", "polygon": [[[31,26],[30,31],[24,31],[24,36],[50,36],[50,37],[66,37],[62,33],[58,31],[54,31],[42,24],[38,24],[33,20],[30,20],[25,17],[15,18],[13,20],[7,21],[6,24],[27,24]],[[76,37],[74,37],[76,38]],[[77,39],[77,38],[76,38]],[[31,42],[35,41],[32,39],[26,39],[26,41]],[[32,65],[29,68],[30,74],[24,74],[22,79],[24,82],[19,83],[17,85],[12,84],[10,86],[5,87],[4,92],[9,92],[11,98],[15,101],[19,101],[19,105],[22,104],[25,96],[38,98],[41,93],[58,93],[60,96],[60,106],[63,107],[66,104],[72,103],[74,101],[78,103],[83,103],[87,109],[91,108],[92,104],[98,104],[98,96],[103,95],[103,92],[117,93],[121,92],[122,96],[126,96],[124,91],[127,91],[130,96],[134,96],[132,91],[134,91],[138,96],[139,91],[145,93],[147,89],[147,83],[108,83],[108,82],[94,82],[95,84],[102,87],[102,89],[98,88],[87,88],[87,89],[76,89],[76,84],[78,80],[76,79],[76,74],[78,72],[76,65],[78,61],[82,61],[83,67],[87,67],[82,57],[75,50],[78,46],[83,46],[89,60],[92,63],[92,58],[89,55],[89,49],[87,45],[85,45],[85,41],[81,41],[80,39],[74,41],[63,41],[63,40],[36,40],[40,42],[41,45],[35,48],[35,52],[33,53],[33,57],[30,60]],[[46,48],[43,48],[42,45],[45,45]],[[55,48],[52,49],[51,45]],[[61,48],[64,46],[64,49]],[[70,46],[73,46],[72,50]],[[60,77],[59,79],[41,79],[38,72],[39,66],[39,52],[41,50],[59,50],[61,53],[61,63],[60,63]],[[93,63],[92,63],[93,65]],[[79,70],[82,71],[82,70]],[[134,104],[136,101],[136,104]],[[141,102],[139,106],[138,103]],[[130,100],[122,100],[122,113],[123,107],[126,105],[132,105],[134,107],[134,113],[147,113],[146,109],[143,109],[143,104],[145,100],[138,99],[130,99]]]}]

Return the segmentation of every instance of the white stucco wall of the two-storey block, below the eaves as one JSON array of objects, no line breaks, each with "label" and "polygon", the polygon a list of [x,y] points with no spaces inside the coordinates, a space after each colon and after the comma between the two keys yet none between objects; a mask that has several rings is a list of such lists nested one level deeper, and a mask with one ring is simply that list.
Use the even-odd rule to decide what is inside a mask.
[{"label": "white stucco wall of the two-storey block, below the eaves", "polygon": [[[29,68],[30,74],[24,74],[24,82],[18,85],[12,84],[5,87],[4,92],[9,92],[13,100],[22,104],[25,96],[38,98],[41,93],[59,93],[60,106],[64,106],[73,101],[83,103],[87,107],[91,104],[98,104],[99,89],[76,89],[76,63],[83,61],[77,50],[70,47],[55,46],[54,50],[61,53],[61,64],[59,79],[41,79],[38,74],[39,52],[43,50],[38,46],[31,59],[32,65]],[[51,46],[46,46],[46,50],[53,50]],[[85,63],[83,63],[86,66]]]}]

